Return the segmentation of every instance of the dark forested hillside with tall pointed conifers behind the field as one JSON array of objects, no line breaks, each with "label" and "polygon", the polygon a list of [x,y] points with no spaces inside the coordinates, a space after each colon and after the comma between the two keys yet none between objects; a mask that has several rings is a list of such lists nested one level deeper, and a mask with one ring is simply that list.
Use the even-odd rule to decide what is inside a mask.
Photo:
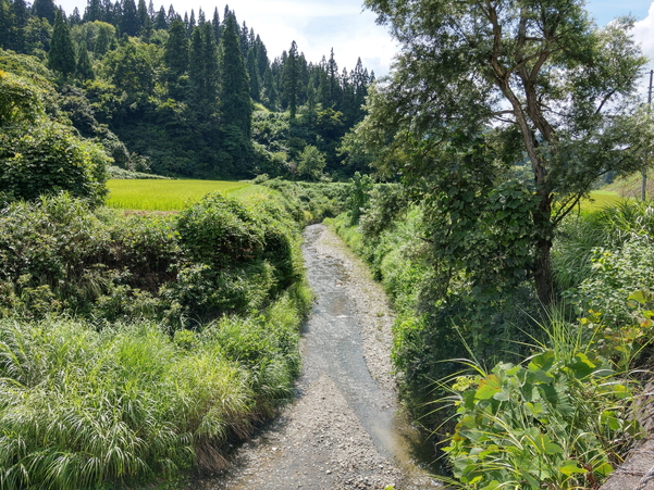
[{"label": "dark forested hillside with tall pointed conifers behind the field", "polygon": [[89,0],[65,13],[52,0],[0,0],[0,70],[29,87],[38,76],[46,113],[120,167],[308,179],[360,169],[336,149],[362,118],[374,74],[360,61],[341,72],[333,50],[308,61],[295,41],[273,56],[229,7],[196,14]]}]

